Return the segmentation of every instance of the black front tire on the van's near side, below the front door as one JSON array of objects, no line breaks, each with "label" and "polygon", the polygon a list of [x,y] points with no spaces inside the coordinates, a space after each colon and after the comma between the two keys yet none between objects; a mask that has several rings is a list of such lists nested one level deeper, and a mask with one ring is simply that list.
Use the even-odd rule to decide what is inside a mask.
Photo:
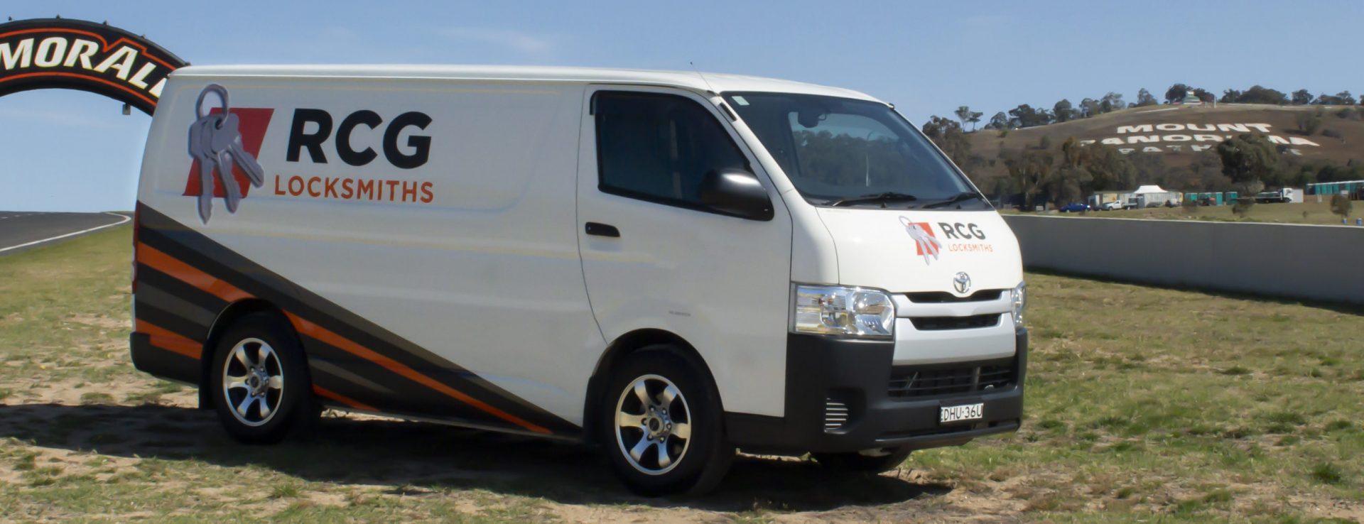
[{"label": "black front tire on the van's near side, below the front door", "polygon": [[[645,382],[645,404],[634,392]],[[671,383],[678,392],[664,403]],[[678,400],[682,403],[679,404]],[[724,437],[720,394],[704,364],[670,345],[651,345],[626,355],[614,366],[599,398],[602,449],[617,476],[632,491],[657,497],[678,493],[704,494],[713,490],[734,463],[734,445]],[[649,407],[656,411],[651,413]],[[671,409],[671,411],[667,411]],[[619,412],[640,413],[640,426],[619,426]],[[689,438],[681,431],[686,424]],[[653,434],[657,439],[649,437]],[[630,450],[647,445],[640,458]],[[670,464],[662,464],[659,450],[667,449]]]}]

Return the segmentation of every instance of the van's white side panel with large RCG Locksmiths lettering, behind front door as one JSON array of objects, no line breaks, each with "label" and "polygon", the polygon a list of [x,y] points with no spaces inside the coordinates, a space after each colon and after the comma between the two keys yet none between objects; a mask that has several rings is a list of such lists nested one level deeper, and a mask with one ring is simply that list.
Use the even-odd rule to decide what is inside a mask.
[{"label": "van's white side panel with large RCG Locksmiths lettering, behind front door", "polygon": [[[210,82],[231,93],[265,183],[243,186],[235,213],[214,198],[205,221],[184,143]],[[574,228],[581,91],[173,78],[139,188],[139,257],[282,308],[331,404],[576,435],[604,347]]]}]

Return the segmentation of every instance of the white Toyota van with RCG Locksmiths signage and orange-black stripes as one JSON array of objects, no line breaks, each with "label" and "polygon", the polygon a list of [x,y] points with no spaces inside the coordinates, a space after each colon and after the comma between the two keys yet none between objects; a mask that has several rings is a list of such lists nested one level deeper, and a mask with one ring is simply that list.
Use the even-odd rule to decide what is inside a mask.
[{"label": "white Toyota van with RCG Locksmiths signage and orange-black stripes", "polygon": [[187,67],[151,123],[132,362],[244,442],[323,407],[842,469],[1013,431],[1018,242],[891,105],[735,75]]}]

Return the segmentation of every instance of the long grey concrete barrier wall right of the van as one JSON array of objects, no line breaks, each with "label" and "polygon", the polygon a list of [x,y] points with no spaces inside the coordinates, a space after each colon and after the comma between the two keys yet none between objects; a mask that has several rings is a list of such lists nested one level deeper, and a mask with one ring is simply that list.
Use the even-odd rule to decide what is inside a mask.
[{"label": "long grey concrete barrier wall right of the van", "polygon": [[1364,304],[1364,227],[1005,214],[1023,266]]}]

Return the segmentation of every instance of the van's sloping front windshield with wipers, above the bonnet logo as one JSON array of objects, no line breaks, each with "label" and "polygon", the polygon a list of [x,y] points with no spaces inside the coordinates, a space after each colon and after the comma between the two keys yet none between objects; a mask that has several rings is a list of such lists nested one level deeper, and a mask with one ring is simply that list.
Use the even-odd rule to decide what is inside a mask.
[{"label": "van's sloping front windshield with wipers, above the bonnet logo", "polygon": [[813,205],[990,209],[929,139],[885,104],[786,93],[724,98]]}]

